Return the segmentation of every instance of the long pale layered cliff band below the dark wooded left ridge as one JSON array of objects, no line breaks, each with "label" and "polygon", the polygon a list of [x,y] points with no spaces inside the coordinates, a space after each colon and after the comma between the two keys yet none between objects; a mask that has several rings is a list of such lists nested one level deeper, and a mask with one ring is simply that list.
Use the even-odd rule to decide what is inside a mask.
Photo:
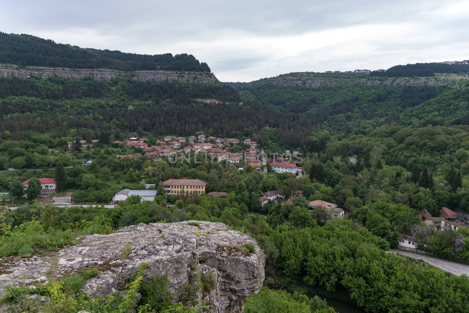
[{"label": "long pale layered cliff band below the dark wooded left ridge", "polygon": [[61,78],[82,79],[92,77],[97,81],[109,81],[117,77],[132,77],[137,81],[180,81],[215,83],[217,78],[203,73],[176,72],[176,71],[135,71],[123,72],[112,69],[72,69],[54,67],[25,67],[17,68],[11,64],[0,64],[0,77],[16,76],[28,78],[31,75],[40,77],[58,76]]}]

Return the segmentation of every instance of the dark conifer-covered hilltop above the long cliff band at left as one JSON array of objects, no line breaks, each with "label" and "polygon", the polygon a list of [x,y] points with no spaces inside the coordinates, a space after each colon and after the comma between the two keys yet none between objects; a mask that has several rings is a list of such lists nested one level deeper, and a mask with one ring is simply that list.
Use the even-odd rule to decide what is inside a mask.
[{"label": "dark conifer-covered hilltop above the long cliff band at left", "polygon": [[0,63],[19,66],[108,68],[121,71],[175,70],[210,72],[207,63],[182,53],[136,54],[57,44],[26,34],[0,32]]}]

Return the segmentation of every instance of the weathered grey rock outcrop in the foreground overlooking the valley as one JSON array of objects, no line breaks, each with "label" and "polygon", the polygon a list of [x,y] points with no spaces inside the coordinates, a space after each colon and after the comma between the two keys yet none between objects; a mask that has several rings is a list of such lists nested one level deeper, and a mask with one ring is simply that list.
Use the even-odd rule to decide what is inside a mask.
[{"label": "weathered grey rock outcrop in the foreground overlooking the valley", "polygon": [[[188,223],[129,226],[110,235],[79,237],[82,243],[64,248],[57,256],[0,261],[0,293],[7,284],[44,283],[46,276],[98,268],[101,273],[89,279],[83,290],[104,296],[123,290],[126,279],[146,262],[144,281],[155,274],[166,276],[174,301],[193,277],[210,270],[213,290],[198,291],[198,298],[207,301],[210,312],[242,312],[245,298],[257,293],[264,281],[264,253],[248,235],[229,231],[225,224]],[[254,253],[243,248],[246,243],[255,246]]]}]

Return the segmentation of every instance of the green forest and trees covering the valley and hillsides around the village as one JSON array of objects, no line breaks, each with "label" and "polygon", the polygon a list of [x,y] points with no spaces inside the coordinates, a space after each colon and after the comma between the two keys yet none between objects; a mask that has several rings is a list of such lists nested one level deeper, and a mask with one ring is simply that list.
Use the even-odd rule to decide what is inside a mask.
[{"label": "green forest and trees covering the valley and hillsides around the village", "polygon": [[[0,62],[18,65],[210,71],[190,55],[85,50],[3,33],[0,43]],[[50,49],[38,53],[48,58],[34,59],[41,49]],[[457,72],[421,67],[467,73],[462,67]],[[231,86],[239,92],[221,82],[1,77],[0,192],[10,198],[0,198],[0,258],[54,254],[76,245],[78,236],[109,234],[139,223],[221,222],[255,238],[266,256],[264,287],[247,298],[245,312],[334,312],[324,297],[366,312],[469,312],[467,276],[389,253],[407,235],[426,253],[469,261],[467,228],[434,231],[416,216],[421,209],[438,216],[442,207],[469,213],[467,82]],[[202,154],[200,163],[175,164],[168,157],[161,162],[145,155],[118,157],[144,154],[122,143],[130,136],[146,137],[146,143],[155,145],[166,135],[201,133],[250,138],[267,154],[297,150],[303,156],[297,165],[309,177],[277,173],[269,165],[263,173],[243,161],[236,166],[226,160],[205,163]],[[99,142],[93,149],[68,149],[68,142],[94,139]],[[247,148],[240,142],[227,150]],[[88,159],[92,163],[83,166]],[[162,182],[181,177],[201,179],[207,193],[229,197],[166,196]],[[35,178],[56,179],[58,194],[70,193],[77,206],[35,201],[34,187],[22,197],[22,182],[32,179],[35,186]],[[144,184],[156,185],[154,201],[129,197],[116,208],[104,207],[121,189],[143,189]],[[272,190],[286,201],[262,205],[260,195]],[[314,200],[335,203],[347,214],[333,219],[323,208],[310,211]],[[17,209],[8,209],[12,203]],[[84,203],[95,206],[79,206]],[[171,304],[167,278],[142,283],[141,266],[125,291],[105,298],[81,293],[86,280],[99,275],[90,269],[36,288],[11,287],[0,301],[9,312],[202,312],[207,305]],[[142,295],[138,301],[137,292]],[[38,302],[28,295],[54,301]]]}]

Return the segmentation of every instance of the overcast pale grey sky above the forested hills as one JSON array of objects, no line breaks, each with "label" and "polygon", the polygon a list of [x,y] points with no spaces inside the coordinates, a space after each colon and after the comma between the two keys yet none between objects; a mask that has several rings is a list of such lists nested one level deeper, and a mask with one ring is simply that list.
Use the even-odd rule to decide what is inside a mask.
[{"label": "overcast pale grey sky above the forested hills", "polygon": [[0,9],[2,32],[189,53],[222,82],[467,60],[468,30],[469,0],[4,0]]}]

